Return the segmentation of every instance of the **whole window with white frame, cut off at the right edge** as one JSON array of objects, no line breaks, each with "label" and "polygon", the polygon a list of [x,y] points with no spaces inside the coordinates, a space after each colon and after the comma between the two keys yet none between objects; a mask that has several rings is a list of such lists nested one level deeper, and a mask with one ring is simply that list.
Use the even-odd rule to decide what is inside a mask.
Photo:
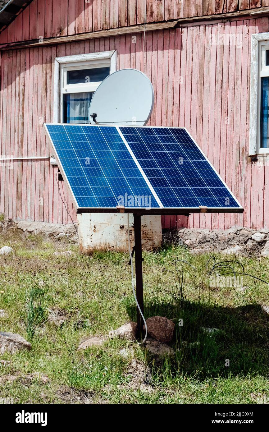
[{"label": "whole window with white frame, cut off at the right edge", "polygon": [[249,154],[269,154],[269,33],[251,41]]}]

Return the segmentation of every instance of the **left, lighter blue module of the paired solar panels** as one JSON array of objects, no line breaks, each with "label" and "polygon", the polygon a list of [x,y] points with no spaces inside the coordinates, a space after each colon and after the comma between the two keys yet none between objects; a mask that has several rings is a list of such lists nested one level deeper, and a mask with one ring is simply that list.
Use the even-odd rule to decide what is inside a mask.
[{"label": "left, lighter blue module of the paired solar panels", "polygon": [[159,207],[116,127],[46,127],[78,208]]}]

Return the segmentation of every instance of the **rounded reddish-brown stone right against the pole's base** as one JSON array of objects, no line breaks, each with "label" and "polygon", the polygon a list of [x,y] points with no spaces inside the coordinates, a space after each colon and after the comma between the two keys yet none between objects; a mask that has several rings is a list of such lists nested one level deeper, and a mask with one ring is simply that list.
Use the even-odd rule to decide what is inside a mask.
[{"label": "rounded reddish-brown stone right against the pole's base", "polygon": [[168,320],[168,318],[159,317],[157,315],[155,317],[148,318],[146,323],[148,327],[148,334],[153,339],[164,343],[170,342],[173,339],[175,325],[173,321]]}]

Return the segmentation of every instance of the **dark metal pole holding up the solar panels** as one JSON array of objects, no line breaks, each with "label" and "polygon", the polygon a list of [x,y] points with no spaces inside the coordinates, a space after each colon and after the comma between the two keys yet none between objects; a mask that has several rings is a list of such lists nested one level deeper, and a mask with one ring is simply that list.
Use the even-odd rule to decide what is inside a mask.
[{"label": "dark metal pole holding up the solar panels", "polygon": [[[142,239],[141,239],[141,216],[133,215],[134,220],[134,239],[135,239],[135,260],[136,260],[136,299],[144,314],[144,301],[143,301],[143,274],[142,274]],[[136,306],[137,312],[137,338],[142,339],[143,320]]]}]

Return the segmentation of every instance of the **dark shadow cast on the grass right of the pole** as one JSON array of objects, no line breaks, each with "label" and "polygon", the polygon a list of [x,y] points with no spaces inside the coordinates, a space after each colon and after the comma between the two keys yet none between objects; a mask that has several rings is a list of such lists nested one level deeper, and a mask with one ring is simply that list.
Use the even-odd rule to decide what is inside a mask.
[{"label": "dark shadow cast on the grass right of the pole", "polygon": [[[136,321],[136,308],[125,302],[130,320]],[[269,318],[259,305],[238,308],[185,301],[184,305],[150,301],[145,298],[145,318],[165,316],[175,324],[170,345],[171,358],[155,362],[145,352],[153,372],[181,374],[196,378],[259,374],[269,376]],[[183,325],[179,325],[179,320]],[[220,332],[207,334],[201,327],[214,327]],[[145,348],[142,347],[145,351]]]}]

